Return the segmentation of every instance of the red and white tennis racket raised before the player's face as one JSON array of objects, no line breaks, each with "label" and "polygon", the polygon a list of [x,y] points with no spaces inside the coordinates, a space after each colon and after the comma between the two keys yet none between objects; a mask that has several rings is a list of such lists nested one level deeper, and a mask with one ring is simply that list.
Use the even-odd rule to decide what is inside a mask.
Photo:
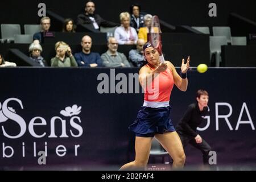
[{"label": "red and white tennis racket raised before the player's face", "polygon": [[161,28],[158,16],[153,16],[151,20],[151,27],[148,40],[150,41],[151,45],[158,50],[160,55],[161,63],[164,63],[164,56],[162,52],[162,39],[161,39]]}]

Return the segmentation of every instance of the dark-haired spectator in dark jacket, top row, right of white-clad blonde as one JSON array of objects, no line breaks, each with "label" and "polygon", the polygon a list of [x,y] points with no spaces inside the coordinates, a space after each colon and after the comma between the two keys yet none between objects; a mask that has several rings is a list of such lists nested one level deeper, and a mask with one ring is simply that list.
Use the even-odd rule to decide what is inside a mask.
[{"label": "dark-haired spectator in dark jacket, top row, right of white-clad blonde", "polygon": [[144,16],[141,13],[141,6],[138,4],[131,5],[130,7],[131,13],[131,27],[134,27],[138,32],[139,28],[144,27]]}]

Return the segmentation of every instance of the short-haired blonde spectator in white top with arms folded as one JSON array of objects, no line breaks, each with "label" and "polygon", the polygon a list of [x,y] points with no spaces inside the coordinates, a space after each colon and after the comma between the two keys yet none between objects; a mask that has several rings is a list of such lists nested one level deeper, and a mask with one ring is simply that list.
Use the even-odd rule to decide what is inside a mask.
[{"label": "short-haired blonde spectator in white top with arms folded", "polygon": [[117,27],[114,32],[118,44],[137,44],[138,35],[135,28],[130,27],[130,14],[123,12],[119,17],[122,25]]}]

